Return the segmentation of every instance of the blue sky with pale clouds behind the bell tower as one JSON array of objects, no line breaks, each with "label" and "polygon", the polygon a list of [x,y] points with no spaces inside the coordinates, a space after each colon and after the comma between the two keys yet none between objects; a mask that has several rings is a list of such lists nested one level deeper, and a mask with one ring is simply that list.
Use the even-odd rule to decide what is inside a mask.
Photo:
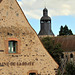
[{"label": "blue sky with pale clouds behind the bell tower", "polygon": [[57,36],[61,25],[67,25],[75,34],[75,0],[17,0],[26,18],[38,34],[40,31],[40,18],[43,9],[48,9],[51,17],[52,31]]}]

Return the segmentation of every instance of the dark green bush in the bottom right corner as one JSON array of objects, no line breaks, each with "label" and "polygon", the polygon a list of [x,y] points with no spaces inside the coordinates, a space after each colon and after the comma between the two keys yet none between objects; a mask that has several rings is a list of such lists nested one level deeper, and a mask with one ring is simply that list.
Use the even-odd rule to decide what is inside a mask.
[{"label": "dark green bush in the bottom right corner", "polygon": [[69,62],[66,65],[67,75],[75,75],[75,63]]}]

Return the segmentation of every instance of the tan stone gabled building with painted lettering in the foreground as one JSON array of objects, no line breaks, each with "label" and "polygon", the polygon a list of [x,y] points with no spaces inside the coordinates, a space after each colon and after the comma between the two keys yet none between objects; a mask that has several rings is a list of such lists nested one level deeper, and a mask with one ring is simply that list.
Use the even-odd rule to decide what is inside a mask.
[{"label": "tan stone gabled building with painted lettering in the foreground", "polygon": [[55,75],[57,68],[17,1],[0,0],[0,75]]}]

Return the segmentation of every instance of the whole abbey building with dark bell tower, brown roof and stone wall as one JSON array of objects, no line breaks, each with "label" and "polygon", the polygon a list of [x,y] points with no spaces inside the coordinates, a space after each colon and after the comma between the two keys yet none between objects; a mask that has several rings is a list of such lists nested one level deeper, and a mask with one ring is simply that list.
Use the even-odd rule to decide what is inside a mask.
[{"label": "whole abbey building with dark bell tower, brown roof and stone wall", "polygon": [[63,50],[60,56],[61,75],[65,74],[65,68],[68,62],[75,63],[75,35],[67,36],[54,36],[51,29],[51,18],[48,16],[47,8],[43,9],[43,17],[40,19],[40,32],[38,34],[40,38],[51,37],[56,44],[60,44]]}]

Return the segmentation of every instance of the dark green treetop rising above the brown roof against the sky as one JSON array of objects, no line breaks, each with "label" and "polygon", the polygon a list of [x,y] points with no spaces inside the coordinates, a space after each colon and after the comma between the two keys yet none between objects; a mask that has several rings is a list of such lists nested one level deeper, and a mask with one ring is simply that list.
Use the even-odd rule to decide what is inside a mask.
[{"label": "dark green treetop rising above the brown roof against the sky", "polygon": [[60,31],[59,31],[59,36],[61,35],[73,35],[71,29],[68,29],[67,25],[64,27],[61,26]]}]

